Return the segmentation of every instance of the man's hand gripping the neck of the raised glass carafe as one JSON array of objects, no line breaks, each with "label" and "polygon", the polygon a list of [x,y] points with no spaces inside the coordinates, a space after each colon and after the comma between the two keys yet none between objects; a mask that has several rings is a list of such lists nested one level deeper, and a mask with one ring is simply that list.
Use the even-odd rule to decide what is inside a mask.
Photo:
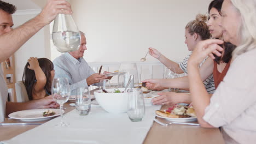
[{"label": "man's hand gripping the neck of the raised glass carafe", "polygon": [[38,15],[44,25],[55,19],[57,14],[72,14],[71,5],[66,0],[48,0],[47,4]]}]

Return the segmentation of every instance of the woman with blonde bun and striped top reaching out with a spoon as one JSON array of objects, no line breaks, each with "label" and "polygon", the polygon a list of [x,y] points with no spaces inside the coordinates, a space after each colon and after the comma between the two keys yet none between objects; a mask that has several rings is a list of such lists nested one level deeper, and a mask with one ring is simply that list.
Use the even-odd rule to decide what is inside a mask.
[{"label": "woman with blonde bun and striped top reaching out with a spoon", "polygon": [[[195,45],[199,41],[210,39],[211,34],[210,34],[210,31],[208,31],[208,26],[206,24],[207,19],[208,19],[207,16],[199,14],[199,15],[196,15],[195,20],[190,21],[187,24],[187,26],[185,26],[185,42],[184,43],[187,44],[189,51],[193,51],[195,48]],[[162,64],[164,64],[166,67],[175,68],[175,72],[178,74],[188,73],[187,63],[191,53],[187,57],[185,57],[181,63],[171,61],[170,59],[162,55],[158,50],[152,47],[149,47],[149,54],[154,58],[159,59],[159,61]],[[200,65],[202,65],[203,62],[205,62],[205,59],[201,62]],[[210,82],[211,79],[212,79],[212,76],[208,77],[208,79],[206,79],[204,83],[207,88],[207,91],[210,93],[213,93],[215,88],[214,86],[212,86],[212,83]],[[157,90],[162,90],[162,89],[165,89],[165,87],[157,88]]]}]

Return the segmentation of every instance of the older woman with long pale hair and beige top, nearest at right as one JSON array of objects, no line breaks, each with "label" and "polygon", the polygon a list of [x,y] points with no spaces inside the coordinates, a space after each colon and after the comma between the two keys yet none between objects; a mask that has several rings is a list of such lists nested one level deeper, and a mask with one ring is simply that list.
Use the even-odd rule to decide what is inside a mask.
[{"label": "older woman with long pale hair and beige top, nearest at right", "polygon": [[210,97],[201,82],[198,65],[209,55],[221,56],[222,40],[197,44],[188,62],[189,87],[198,122],[202,127],[221,127],[226,143],[256,141],[256,1],[224,0],[224,41],[237,45],[231,65]]}]

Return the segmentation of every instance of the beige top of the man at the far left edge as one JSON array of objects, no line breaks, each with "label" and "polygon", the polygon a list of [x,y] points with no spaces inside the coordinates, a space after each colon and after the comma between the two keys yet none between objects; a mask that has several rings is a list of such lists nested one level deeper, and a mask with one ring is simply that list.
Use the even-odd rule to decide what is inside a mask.
[{"label": "beige top of the man at the far left edge", "polygon": [[8,98],[8,88],[4,80],[3,70],[0,64],[0,122],[5,118],[5,105]]}]

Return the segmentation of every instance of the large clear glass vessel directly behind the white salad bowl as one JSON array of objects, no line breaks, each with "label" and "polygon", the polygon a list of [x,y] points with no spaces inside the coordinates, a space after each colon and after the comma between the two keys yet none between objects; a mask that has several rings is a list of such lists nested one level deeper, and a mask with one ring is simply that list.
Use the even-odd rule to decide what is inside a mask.
[{"label": "large clear glass vessel directly behind the white salad bowl", "polygon": [[139,86],[136,63],[121,64],[118,72],[118,88],[126,87],[131,75],[133,75],[133,80],[128,87],[135,88]]}]

